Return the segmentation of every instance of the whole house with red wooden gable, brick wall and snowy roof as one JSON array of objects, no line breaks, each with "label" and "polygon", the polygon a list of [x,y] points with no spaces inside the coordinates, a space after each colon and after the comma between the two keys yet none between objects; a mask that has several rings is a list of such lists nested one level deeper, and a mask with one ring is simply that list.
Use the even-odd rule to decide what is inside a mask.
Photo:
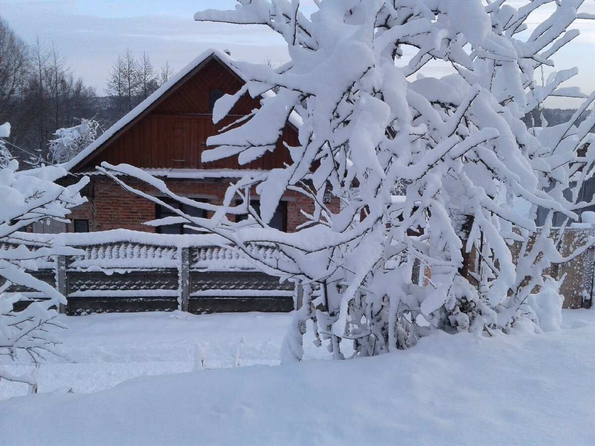
[{"label": "whole house with red wooden gable, brick wall and snowy roof", "polygon": [[[174,193],[214,203],[223,199],[230,180],[240,178],[246,169],[268,170],[289,162],[289,151],[283,143],[297,143],[297,122],[287,123],[274,152],[249,164],[240,165],[237,157],[201,161],[209,136],[260,106],[259,98],[246,95],[220,123],[213,124],[215,100],[225,93],[236,93],[243,84],[245,79],[228,54],[206,51],[67,162],[64,166],[71,174],[91,178],[85,191],[89,201],[74,209],[67,232],[115,228],[168,234],[191,231],[181,224],[160,228],[143,225],[171,211],[125,191],[100,174],[96,166],[103,161],[142,168],[164,180]],[[159,196],[140,181],[130,184]],[[258,206],[258,196],[253,205]],[[295,231],[302,223],[300,209],[309,211],[309,206],[311,203],[299,195],[287,194],[271,224],[284,231]]]}]

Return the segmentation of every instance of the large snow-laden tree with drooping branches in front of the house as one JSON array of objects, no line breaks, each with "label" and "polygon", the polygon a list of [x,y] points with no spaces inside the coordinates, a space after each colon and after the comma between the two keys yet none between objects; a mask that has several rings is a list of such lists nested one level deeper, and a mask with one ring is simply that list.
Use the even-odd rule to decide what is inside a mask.
[{"label": "large snow-laden tree with drooping branches in front of the house", "polygon": [[[302,356],[308,319],[337,358],[342,340],[367,356],[414,346],[433,329],[552,328],[546,321],[561,301],[558,283],[543,271],[563,261],[549,238],[552,215],[576,219],[585,205],[577,192],[593,173],[594,155],[579,158],[577,147],[588,142],[595,115],[543,131],[528,130],[522,118],[548,96],[584,97],[560,86],[575,69],[543,84],[535,76],[578,35],[569,26],[593,18],[577,12],[582,3],[315,0],[306,16],[299,0],[239,0],[233,11],[197,12],[199,21],[268,26],[291,58],[275,70],[234,62],[250,81],[215,104],[214,121],[246,93],[261,96],[261,108],[211,137],[215,147],[203,161],[257,159],[275,149],[292,120],[300,123],[292,163],[246,174],[221,206],[176,196],[138,169],[104,164],[104,171],[121,184],[115,172],[140,177],[214,212],[202,219],[171,208],[180,221],[222,235],[262,271],[302,283],[288,359]],[[528,29],[542,8],[549,17]],[[452,74],[424,77],[430,62]],[[268,225],[287,190],[314,206],[293,234]],[[340,209],[325,203],[328,191]],[[254,192],[259,212],[250,206]],[[243,203],[234,208],[238,196]],[[528,215],[513,212],[517,200]],[[538,207],[549,213],[541,231]],[[227,217],[246,212],[247,221]],[[521,252],[513,260],[515,241]],[[278,247],[272,259],[253,249],[267,243]]]}]

